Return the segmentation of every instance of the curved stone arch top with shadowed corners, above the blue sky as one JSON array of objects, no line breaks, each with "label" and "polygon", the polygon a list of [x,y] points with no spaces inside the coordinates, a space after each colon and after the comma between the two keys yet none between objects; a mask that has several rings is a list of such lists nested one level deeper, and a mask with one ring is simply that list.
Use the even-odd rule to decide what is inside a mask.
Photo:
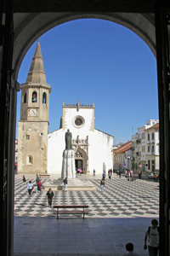
[{"label": "curved stone arch top with shadowed corners, above the blue sky", "polygon": [[38,13],[14,14],[14,80],[17,80],[20,64],[26,52],[37,38],[48,30],[65,22],[78,19],[109,20],[136,33],[156,56],[155,18],[152,14],[136,13]]}]

